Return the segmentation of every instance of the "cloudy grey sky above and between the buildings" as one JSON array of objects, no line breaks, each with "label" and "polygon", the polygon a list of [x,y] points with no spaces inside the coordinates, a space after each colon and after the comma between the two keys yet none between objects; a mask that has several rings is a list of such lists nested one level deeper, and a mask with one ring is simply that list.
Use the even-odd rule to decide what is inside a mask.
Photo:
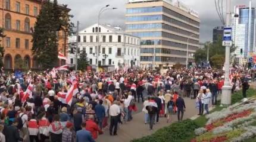
[{"label": "cloudy grey sky above and between the buildings", "polygon": [[[220,0],[221,1],[221,0]],[[226,0],[224,8],[226,9]],[[252,7],[256,7],[256,1],[252,0]],[[120,25],[124,27],[126,12],[125,4],[127,0],[58,0],[60,4],[67,4],[71,9],[70,14],[74,15],[72,21],[80,21],[80,28],[86,28],[95,24],[98,17],[99,9],[105,5],[116,7],[117,9],[109,10],[101,15],[101,24]],[[216,12],[214,0],[182,0],[183,3],[199,13],[201,20],[200,25],[200,42],[211,41],[213,38],[213,28],[221,25],[220,18]],[[249,5],[249,0],[232,0],[232,11],[234,5]],[[225,14],[224,14],[225,15]],[[226,20],[225,20],[226,21]]]}]

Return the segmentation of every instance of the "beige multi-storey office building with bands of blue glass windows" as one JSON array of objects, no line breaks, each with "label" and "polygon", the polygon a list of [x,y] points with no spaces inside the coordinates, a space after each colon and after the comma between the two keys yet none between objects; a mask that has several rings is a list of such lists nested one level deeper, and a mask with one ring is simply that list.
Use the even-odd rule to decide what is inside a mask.
[{"label": "beige multi-storey office building with bands of blue glass windows", "polygon": [[180,1],[129,0],[126,5],[126,32],[141,37],[142,67],[186,64],[187,56],[193,62],[199,25],[198,13]]}]

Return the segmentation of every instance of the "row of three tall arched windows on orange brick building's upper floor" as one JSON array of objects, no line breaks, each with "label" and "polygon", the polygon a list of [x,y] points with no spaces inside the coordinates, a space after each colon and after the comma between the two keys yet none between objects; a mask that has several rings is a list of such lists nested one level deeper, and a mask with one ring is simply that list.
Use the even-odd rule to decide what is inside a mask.
[{"label": "row of three tall arched windows on orange brick building's upper floor", "polygon": [[[5,29],[7,30],[11,30],[11,29],[15,29],[20,31],[21,30],[21,21],[20,20],[16,20],[15,21],[15,28],[12,27],[12,23],[11,23],[11,15],[9,13],[5,14]],[[29,18],[25,18],[24,20],[24,31],[27,33],[30,33],[30,20]]]}]

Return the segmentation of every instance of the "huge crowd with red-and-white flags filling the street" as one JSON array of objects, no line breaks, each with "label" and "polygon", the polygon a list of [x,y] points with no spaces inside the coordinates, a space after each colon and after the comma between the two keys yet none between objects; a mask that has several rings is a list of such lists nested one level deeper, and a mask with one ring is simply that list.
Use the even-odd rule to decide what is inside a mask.
[{"label": "huge crowd with red-and-white flags filling the street", "polygon": [[[230,82],[246,97],[245,72],[236,70]],[[182,121],[185,97],[196,100],[198,115],[208,114],[223,85],[223,72],[201,69],[1,73],[0,141],[95,141],[105,128],[117,135],[141,102],[152,130],[160,117],[171,122],[177,114]]]}]

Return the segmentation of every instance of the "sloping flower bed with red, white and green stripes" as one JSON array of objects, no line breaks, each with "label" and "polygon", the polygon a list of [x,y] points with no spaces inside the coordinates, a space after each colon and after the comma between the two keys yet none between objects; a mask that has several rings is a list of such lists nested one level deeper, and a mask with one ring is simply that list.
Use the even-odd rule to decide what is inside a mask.
[{"label": "sloping flower bed with red, white and green stripes", "polygon": [[[236,107],[235,107],[236,106]],[[195,130],[198,137],[191,142],[245,141],[256,136],[256,102],[229,106],[206,116],[205,127]]]}]

